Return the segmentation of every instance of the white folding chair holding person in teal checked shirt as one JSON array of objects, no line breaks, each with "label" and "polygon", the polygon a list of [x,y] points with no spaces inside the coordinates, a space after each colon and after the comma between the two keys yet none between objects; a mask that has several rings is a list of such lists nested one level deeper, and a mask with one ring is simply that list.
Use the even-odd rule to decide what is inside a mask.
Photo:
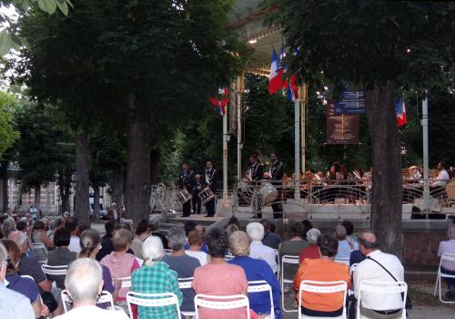
[{"label": "white folding chair holding person in teal checked shirt", "polygon": [[136,304],[142,307],[164,307],[164,306],[176,306],[177,316],[180,318],[180,306],[178,304],[178,298],[175,293],[126,293],[126,304],[128,304],[129,317],[133,318],[133,312],[131,310],[131,304]]}]

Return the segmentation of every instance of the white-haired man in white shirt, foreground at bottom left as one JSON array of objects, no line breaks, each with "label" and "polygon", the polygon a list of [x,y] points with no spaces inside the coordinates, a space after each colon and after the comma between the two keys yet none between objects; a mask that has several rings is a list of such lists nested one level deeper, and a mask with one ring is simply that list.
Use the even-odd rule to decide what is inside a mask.
[{"label": "white-haired man in white shirt, foreground at bottom left", "polygon": [[103,271],[99,262],[79,258],[69,265],[65,278],[66,292],[73,300],[73,308],[58,319],[128,319],[123,311],[96,307],[98,294],[103,291]]}]

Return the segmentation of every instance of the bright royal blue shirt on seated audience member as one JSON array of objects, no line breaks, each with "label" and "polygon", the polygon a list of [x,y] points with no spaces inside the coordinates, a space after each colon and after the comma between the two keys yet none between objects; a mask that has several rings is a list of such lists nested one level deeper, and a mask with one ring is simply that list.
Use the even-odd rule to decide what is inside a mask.
[{"label": "bright royal blue shirt on seated audience member", "polygon": [[[272,272],[272,269],[267,262],[259,259],[253,259],[248,256],[235,257],[228,263],[236,264],[243,268],[247,274],[248,282],[264,280],[272,287],[273,305],[279,308],[280,289],[277,277]],[[268,292],[264,293],[248,293],[249,306],[257,314],[270,314],[270,298]]]}]

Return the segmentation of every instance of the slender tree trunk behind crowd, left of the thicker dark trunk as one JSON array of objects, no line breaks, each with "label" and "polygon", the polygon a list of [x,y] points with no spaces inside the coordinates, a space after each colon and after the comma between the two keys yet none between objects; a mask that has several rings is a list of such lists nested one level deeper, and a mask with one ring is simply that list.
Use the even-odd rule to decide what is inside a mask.
[{"label": "slender tree trunk behind crowd, left of the thicker dark trunk", "polygon": [[88,139],[86,133],[76,134],[76,196],[75,215],[81,223],[90,222],[88,210]]}]

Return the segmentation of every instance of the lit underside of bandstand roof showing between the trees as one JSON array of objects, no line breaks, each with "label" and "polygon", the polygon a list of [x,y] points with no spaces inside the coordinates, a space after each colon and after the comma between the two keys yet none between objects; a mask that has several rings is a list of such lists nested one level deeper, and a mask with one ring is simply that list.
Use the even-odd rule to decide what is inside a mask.
[{"label": "lit underside of bandstand roof showing between the trees", "polygon": [[229,16],[227,27],[235,30],[251,50],[246,72],[268,77],[272,47],[275,47],[279,54],[284,39],[279,26],[264,23],[265,15],[271,9],[262,8],[262,3],[262,0],[238,0]]}]

